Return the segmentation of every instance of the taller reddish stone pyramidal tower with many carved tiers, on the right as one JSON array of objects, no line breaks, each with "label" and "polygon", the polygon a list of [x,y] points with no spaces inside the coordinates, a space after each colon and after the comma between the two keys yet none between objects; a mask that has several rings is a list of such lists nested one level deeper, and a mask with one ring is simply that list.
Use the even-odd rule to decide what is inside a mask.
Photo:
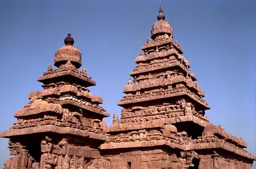
[{"label": "taller reddish stone pyramidal tower with many carved tiers, on the right", "polygon": [[118,103],[121,120],[114,114],[109,139],[100,146],[112,167],[251,168],[255,157],[243,149],[246,143],[204,116],[210,109],[204,91],[173,40],[162,6],[151,39]]}]

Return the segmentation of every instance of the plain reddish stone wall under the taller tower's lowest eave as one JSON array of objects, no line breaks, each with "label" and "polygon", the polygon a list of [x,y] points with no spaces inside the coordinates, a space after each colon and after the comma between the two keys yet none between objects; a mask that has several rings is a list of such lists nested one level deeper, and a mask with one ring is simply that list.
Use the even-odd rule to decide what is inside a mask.
[{"label": "plain reddish stone wall under the taller tower's lowest eave", "polygon": [[[97,161],[97,162],[96,162]],[[95,160],[90,168],[101,169],[157,169],[157,168],[182,168],[181,160],[176,155],[168,155],[160,149],[149,151],[130,151],[115,155],[105,155],[104,158]]]}]

